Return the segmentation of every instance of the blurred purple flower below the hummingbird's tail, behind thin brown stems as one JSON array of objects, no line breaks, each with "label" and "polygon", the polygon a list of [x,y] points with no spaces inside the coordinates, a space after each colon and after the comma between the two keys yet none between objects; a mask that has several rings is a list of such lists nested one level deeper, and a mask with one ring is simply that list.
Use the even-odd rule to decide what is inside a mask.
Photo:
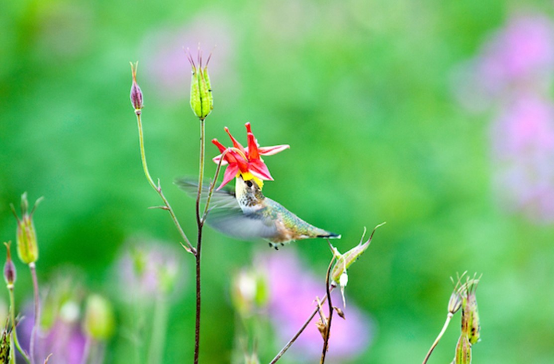
[{"label": "blurred purple flower below the hummingbird's tail, behind thin brown stems", "polygon": [[[290,249],[259,259],[259,266],[263,267],[268,277],[269,318],[274,323],[278,342],[284,345],[314,311],[316,296],[324,297],[325,272],[322,272],[319,279],[306,272],[299,258]],[[335,306],[341,306],[338,290],[331,297]],[[371,344],[370,319],[353,304],[348,305],[345,315],[346,320],[334,315],[327,356],[329,363],[356,358]],[[319,315],[316,315],[290,348],[290,355],[295,356],[295,361],[314,361],[321,355],[323,339],[315,326],[318,318]]]}]

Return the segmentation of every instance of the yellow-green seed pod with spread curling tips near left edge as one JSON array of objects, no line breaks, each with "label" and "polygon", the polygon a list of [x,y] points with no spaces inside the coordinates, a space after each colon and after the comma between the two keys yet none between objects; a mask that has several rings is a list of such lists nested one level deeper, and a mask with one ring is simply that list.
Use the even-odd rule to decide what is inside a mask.
[{"label": "yellow-green seed pod with spread curling tips near left edge", "polygon": [[37,209],[37,205],[42,200],[42,197],[38,199],[31,212],[28,212],[29,202],[27,201],[27,193],[25,192],[21,195],[21,214],[22,217],[19,219],[17,212],[13,204],[12,207],[13,215],[17,219],[17,254],[19,259],[25,264],[34,263],[38,259],[38,244],[37,244],[37,233],[35,232],[34,223],[33,223],[33,213]]}]

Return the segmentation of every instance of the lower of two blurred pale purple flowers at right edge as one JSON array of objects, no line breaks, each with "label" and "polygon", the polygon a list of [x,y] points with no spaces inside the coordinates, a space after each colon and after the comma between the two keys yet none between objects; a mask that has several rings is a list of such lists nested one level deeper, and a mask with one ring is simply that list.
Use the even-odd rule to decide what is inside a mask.
[{"label": "lower of two blurred pale purple flowers at right edge", "polygon": [[512,210],[554,221],[554,105],[524,95],[491,129],[496,183]]}]

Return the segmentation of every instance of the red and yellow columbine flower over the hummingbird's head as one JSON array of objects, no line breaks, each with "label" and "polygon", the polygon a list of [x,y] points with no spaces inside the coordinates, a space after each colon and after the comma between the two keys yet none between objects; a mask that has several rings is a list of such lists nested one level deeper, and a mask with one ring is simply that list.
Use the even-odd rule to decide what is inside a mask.
[{"label": "red and yellow columbine flower over the hummingbird's head", "polygon": [[[273,177],[271,177],[268,166],[265,165],[264,161],[260,158],[260,155],[273,155],[290,148],[290,145],[288,144],[273,145],[271,147],[259,147],[258,141],[254,137],[252,129],[250,129],[250,123],[246,123],[244,125],[246,126],[248,137],[247,148],[244,148],[242,144],[240,144],[237,139],[231,135],[229,128],[225,127],[225,132],[227,132],[229,138],[231,138],[234,149],[229,150],[223,157],[222,165],[228,164],[228,166],[223,174],[223,182],[218,189],[222,188],[238,175],[242,175],[245,181],[253,179],[261,188],[264,184],[263,180],[273,181]],[[212,143],[219,148],[219,152],[222,154],[225,150],[227,150],[227,148],[223,144],[219,143],[217,139],[212,139]],[[222,154],[214,157],[213,161],[219,163]]]}]

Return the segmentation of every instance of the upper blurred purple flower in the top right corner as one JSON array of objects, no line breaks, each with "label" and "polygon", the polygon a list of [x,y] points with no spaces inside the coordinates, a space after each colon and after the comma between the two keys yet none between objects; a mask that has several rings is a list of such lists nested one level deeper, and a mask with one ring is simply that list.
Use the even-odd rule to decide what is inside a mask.
[{"label": "upper blurred purple flower in the top right corner", "polygon": [[540,13],[520,13],[455,70],[453,87],[466,108],[482,111],[520,89],[544,91],[553,70],[554,23]]}]

